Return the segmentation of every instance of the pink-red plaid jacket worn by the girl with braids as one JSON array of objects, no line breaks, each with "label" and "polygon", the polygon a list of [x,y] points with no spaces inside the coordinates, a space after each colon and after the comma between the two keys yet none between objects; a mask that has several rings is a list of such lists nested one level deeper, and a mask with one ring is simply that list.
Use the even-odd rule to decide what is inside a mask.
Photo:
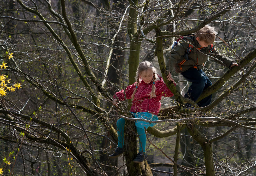
[{"label": "pink-red plaid jacket worn by the girl with braids", "polygon": [[[162,96],[171,97],[173,93],[164,83],[162,77],[158,76],[160,80],[155,81],[156,87],[156,98],[150,98],[148,94],[150,94],[152,90],[153,81],[149,84],[145,83],[142,79],[139,81],[138,89],[134,95],[134,99],[132,101],[131,112],[149,112],[157,115],[159,113],[161,107],[161,98]],[[175,84],[176,85],[176,84]],[[125,90],[121,90],[120,92],[115,93],[120,101],[125,100],[125,94],[127,99],[131,99],[132,93],[136,88],[136,82],[132,85],[128,86]],[[114,98],[116,96],[114,95]]]}]

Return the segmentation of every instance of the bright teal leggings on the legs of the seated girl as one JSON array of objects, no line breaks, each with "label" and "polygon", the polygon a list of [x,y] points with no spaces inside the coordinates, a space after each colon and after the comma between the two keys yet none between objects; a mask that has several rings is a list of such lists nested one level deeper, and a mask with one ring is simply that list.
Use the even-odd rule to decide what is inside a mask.
[{"label": "bright teal leggings on the legs of the seated girl", "polygon": [[[124,125],[125,125],[125,119],[120,118],[117,121],[118,147],[120,148],[123,148],[124,146]],[[147,128],[148,126],[145,126],[145,127]],[[145,152],[146,141],[147,141],[145,129],[137,127],[137,133],[139,137],[139,151]]]}]

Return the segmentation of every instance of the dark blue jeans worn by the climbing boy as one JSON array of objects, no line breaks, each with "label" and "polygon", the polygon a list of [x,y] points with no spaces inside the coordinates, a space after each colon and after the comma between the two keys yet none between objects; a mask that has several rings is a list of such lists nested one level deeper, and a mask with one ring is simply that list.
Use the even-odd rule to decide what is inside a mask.
[{"label": "dark blue jeans worn by the climbing boy", "polygon": [[[185,94],[185,98],[189,98],[193,101],[196,101],[203,90],[212,85],[212,82],[205,75],[205,73],[200,69],[189,68],[188,70],[181,73],[184,78],[191,82],[191,86],[188,89],[188,92]],[[198,106],[204,107],[210,105],[212,100],[212,95],[207,96],[197,103]]]}]

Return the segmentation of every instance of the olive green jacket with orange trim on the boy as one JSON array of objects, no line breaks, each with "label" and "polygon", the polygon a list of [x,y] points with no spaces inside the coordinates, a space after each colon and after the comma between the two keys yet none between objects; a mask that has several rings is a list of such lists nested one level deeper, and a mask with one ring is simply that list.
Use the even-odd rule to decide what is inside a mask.
[{"label": "olive green jacket with orange trim on the boy", "polygon": [[209,55],[214,57],[213,59],[216,60],[219,64],[222,64],[228,68],[230,68],[230,66],[232,65],[232,60],[222,55],[219,55],[217,49],[214,48],[214,45],[214,50],[210,52],[211,45],[209,45],[208,47],[201,47],[197,42],[195,36],[185,37],[185,41],[193,45],[191,53],[188,54],[187,59],[186,53],[189,44],[184,42],[183,40],[180,40],[177,46],[175,46],[171,51],[171,57],[166,62],[166,68],[167,70],[170,70],[171,73],[173,71],[173,68],[177,73],[186,71],[191,67],[194,67],[196,69],[202,69]]}]

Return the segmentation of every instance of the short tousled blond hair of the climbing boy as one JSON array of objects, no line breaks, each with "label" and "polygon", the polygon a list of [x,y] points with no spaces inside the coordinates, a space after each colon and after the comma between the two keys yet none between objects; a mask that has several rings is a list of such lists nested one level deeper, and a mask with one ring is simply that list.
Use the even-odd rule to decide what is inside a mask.
[{"label": "short tousled blond hair of the climbing boy", "polygon": [[199,38],[200,41],[204,41],[206,44],[213,44],[216,38],[217,32],[215,28],[209,25],[205,25],[202,29],[196,32],[196,37]]}]

